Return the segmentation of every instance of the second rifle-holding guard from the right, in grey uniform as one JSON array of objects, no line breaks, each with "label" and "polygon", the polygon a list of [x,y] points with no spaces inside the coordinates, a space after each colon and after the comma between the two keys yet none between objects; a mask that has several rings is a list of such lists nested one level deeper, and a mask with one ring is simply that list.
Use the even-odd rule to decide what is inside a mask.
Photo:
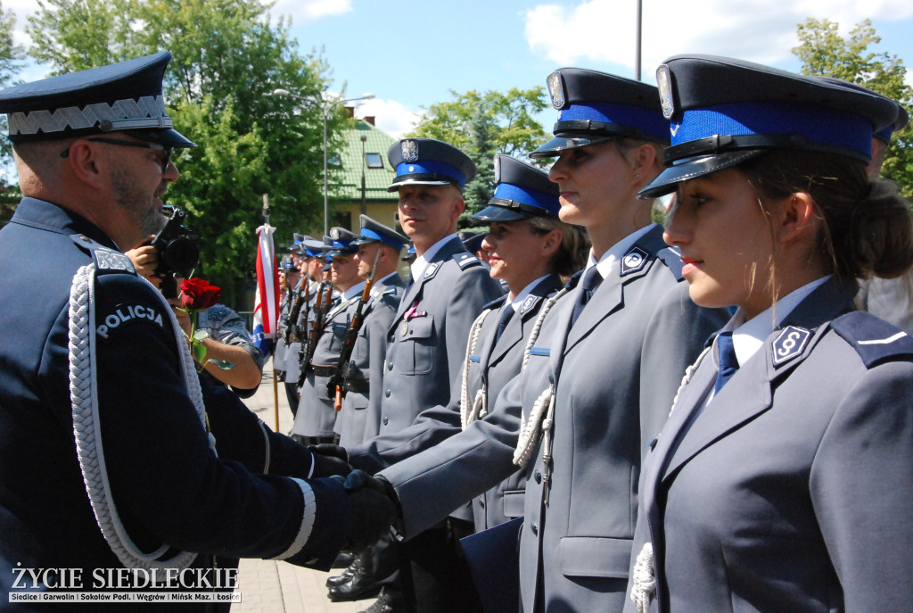
[{"label": "second rifle-holding guard from the right, in grey uniform", "polygon": [[[322,324],[323,328],[320,338],[313,345],[310,365],[301,365],[307,368],[307,378],[301,387],[299,412],[291,430],[293,436],[309,445],[334,440],[333,427],[338,413],[333,407],[333,398],[327,394],[327,384],[336,371],[342,343],[362,298],[365,283],[359,279],[358,264],[352,258],[358,250],[352,246],[355,235],[344,227],[332,227],[330,232],[332,245],[327,251],[327,257],[331,259],[330,283],[340,293],[340,302],[329,310],[324,309],[325,316],[320,323],[316,320],[320,313],[314,313],[315,323]],[[326,299],[324,295],[322,300]],[[308,342],[313,340],[309,333]]]}]

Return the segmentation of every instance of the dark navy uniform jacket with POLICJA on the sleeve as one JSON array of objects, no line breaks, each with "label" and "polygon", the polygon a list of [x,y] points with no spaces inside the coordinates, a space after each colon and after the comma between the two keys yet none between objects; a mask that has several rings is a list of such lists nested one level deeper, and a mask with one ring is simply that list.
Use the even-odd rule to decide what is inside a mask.
[{"label": "dark navy uniform jacket with POLICJA on the sleeve", "polygon": [[[27,256],[37,252],[54,266]],[[84,414],[75,424],[68,380],[70,288],[77,270],[93,261],[98,266],[92,300],[96,328],[74,333],[88,331],[94,343],[93,431],[101,435],[94,449],[103,450],[108,485],[126,533],[146,552],[168,544],[203,554],[291,555],[289,561],[296,564],[316,560],[329,567],[348,521],[342,517],[348,512],[341,486],[331,480],[310,481],[309,486],[257,475],[242,463],[217,458],[184,386],[172,315],[162,296],[132,272],[129,259],[100,228],[64,208],[26,197],[0,229],[4,610],[19,606],[7,595],[14,589],[15,568],[81,569],[84,588],[90,588],[94,569],[123,567],[89,502],[74,437],[74,429],[85,434],[79,426]],[[256,417],[237,410],[243,405],[235,395],[222,396],[226,406],[212,409],[226,417],[229,428],[249,427],[245,438],[260,445],[266,434]],[[205,401],[213,404],[218,398],[210,394]],[[222,436],[215,428],[214,433]],[[276,457],[270,449],[260,455],[260,469],[270,455]],[[310,460],[301,466],[308,470]],[[342,513],[315,515],[314,505],[331,505]],[[194,561],[199,567],[211,564],[208,555]]]}]

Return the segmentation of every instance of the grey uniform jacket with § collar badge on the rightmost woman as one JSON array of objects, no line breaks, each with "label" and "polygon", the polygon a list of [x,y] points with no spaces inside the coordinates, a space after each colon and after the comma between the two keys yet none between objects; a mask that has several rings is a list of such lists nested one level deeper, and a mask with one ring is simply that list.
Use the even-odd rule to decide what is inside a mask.
[{"label": "grey uniform jacket with \u00a7 collar badge on the rightmost woman", "polygon": [[678,393],[645,460],[650,610],[913,606],[913,340],[854,291],[815,289],[697,418],[711,354]]}]

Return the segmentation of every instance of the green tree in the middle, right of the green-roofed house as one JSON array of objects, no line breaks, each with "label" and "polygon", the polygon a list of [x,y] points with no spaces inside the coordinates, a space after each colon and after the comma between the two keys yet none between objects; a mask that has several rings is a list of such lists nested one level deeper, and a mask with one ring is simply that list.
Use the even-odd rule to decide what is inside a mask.
[{"label": "green tree in the middle, right of the green-roofed house", "polygon": [[480,94],[476,90],[450,93],[456,100],[432,104],[409,136],[450,143],[476,163],[477,178],[464,191],[465,218],[488,205],[494,192],[495,153],[524,157],[545,142],[545,131],[532,115],[544,110],[548,102],[542,87],[512,88],[506,94],[499,91]]}]

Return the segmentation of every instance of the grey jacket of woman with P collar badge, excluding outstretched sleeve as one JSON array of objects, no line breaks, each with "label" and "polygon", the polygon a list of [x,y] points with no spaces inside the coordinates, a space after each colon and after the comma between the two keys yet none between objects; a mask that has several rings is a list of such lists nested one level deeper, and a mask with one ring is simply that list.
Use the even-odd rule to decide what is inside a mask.
[{"label": "grey jacket of woman with P collar badge, excluding outstretched sleeve", "polygon": [[[524,611],[621,611],[646,445],[725,311],[698,308],[662,228],[635,241],[569,329],[579,288],[548,313],[519,386],[526,415],[555,388],[551,461],[532,449],[520,537]],[[539,601],[541,608],[534,607]]]}]

